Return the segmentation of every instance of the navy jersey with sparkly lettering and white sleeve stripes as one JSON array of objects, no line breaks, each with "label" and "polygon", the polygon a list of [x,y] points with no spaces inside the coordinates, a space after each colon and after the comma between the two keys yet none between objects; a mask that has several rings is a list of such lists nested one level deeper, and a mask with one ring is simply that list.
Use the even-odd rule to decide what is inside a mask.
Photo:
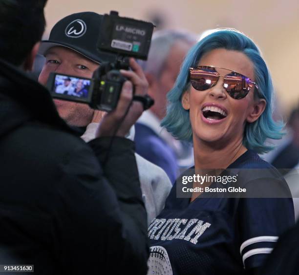
[{"label": "navy jersey with sparkly lettering and white sleeve stripes", "polygon": [[[228,168],[278,173],[251,150]],[[249,181],[258,184],[256,178]],[[278,236],[293,224],[292,198],[199,196],[190,203],[176,197],[174,185],[165,209],[149,225],[149,274],[243,274],[261,266]]]}]

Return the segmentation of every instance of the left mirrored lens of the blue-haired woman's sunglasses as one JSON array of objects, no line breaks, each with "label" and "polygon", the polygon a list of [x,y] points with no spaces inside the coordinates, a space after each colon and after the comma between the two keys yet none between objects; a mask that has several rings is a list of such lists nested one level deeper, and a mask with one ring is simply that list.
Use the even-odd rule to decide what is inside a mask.
[{"label": "left mirrored lens of the blue-haired woman's sunglasses", "polygon": [[190,70],[191,85],[195,90],[204,91],[210,89],[218,80],[218,73],[205,70]]}]

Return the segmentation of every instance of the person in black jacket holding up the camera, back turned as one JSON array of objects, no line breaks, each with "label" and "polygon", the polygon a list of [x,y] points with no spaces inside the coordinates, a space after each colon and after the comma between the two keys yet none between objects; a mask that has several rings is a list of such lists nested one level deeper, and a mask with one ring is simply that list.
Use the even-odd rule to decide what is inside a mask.
[{"label": "person in black jacket holding up the camera, back turned", "polygon": [[144,96],[145,77],[132,62],[116,109],[83,142],[24,73],[43,34],[44,4],[0,0],[0,265],[34,265],[45,275],[146,274],[146,212],[134,144],[124,138],[143,110],[132,84]]}]

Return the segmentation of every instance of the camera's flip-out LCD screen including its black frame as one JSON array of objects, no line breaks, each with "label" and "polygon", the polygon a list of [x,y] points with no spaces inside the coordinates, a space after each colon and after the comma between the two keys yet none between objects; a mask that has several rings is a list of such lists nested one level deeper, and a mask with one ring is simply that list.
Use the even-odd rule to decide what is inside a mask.
[{"label": "camera's flip-out LCD screen including its black frame", "polygon": [[49,87],[52,97],[70,101],[89,103],[92,94],[90,79],[54,74]]}]

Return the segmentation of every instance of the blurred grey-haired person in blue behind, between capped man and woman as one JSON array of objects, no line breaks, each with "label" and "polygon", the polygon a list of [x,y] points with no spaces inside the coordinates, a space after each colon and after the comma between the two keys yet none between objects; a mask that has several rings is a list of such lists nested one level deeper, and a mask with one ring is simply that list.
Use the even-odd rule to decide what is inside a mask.
[{"label": "blurred grey-haired person in blue behind, between capped man and woman", "polygon": [[166,114],[166,95],[179,73],[181,63],[196,42],[187,31],[162,30],[154,33],[147,62],[141,66],[149,82],[149,95],[155,104],[140,117],[135,125],[136,152],[158,165],[175,181],[178,168],[193,164],[192,146],[180,142],[160,127]]}]

